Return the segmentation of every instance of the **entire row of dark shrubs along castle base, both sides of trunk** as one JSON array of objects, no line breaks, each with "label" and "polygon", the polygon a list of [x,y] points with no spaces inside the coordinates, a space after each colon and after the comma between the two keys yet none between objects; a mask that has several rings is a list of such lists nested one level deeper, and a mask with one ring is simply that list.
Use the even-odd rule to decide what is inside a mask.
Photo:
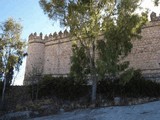
[{"label": "entire row of dark shrubs along castle base, both sides of trunk", "polygon": [[[90,87],[77,83],[74,78],[54,78],[46,75],[39,83],[38,96],[39,99],[56,97],[58,100],[77,101],[85,99],[85,101],[88,101]],[[117,96],[121,98],[160,97],[160,84],[145,80],[140,70],[136,70],[131,80],[126,84],[123,84],[120,79],[110,80],[105,78],[99,81],[97,94],[107,100],[113,100]]]}]

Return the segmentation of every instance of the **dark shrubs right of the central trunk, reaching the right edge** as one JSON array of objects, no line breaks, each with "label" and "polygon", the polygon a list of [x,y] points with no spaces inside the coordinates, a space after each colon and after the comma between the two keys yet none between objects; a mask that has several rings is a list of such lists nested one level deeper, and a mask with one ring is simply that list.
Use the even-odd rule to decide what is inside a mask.
[{"label": "dark shrubs right of the central trunk, reaching the right edge", "polygon": [[126,84],[121,80],[102,80],[98,84],[98,93],[108,98],[121,97],[160,97],[160,84],[145,80],[140,70],[134,71],[133,77]]}]

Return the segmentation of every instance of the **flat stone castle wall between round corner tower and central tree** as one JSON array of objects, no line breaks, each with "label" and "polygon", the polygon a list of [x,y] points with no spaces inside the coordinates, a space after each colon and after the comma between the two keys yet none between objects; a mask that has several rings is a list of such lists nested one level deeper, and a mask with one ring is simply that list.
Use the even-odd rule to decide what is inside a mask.
[{"label": "flat stone castle wall between round corner tower and central tree", "polygon": [[[66,31],[67,33],[67,31]],[[66,75],[70,70],[70,56],[72,54],[72,43],[69,39],[68,33],[59,33],[53,39],[50,35],[45,42],[45,59],[43,74]]]}]

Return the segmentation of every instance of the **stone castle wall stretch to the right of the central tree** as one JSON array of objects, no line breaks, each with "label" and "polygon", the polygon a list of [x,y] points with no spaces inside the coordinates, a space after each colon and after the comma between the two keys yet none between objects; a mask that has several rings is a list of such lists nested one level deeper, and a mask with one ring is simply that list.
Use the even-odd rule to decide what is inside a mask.
[{"label": "stone castle wall stretch to the right of the central tree", "polygon": [[133,41],[127,59],[130,66],[141,69],[145,77],[160,78],[160,21],[151,21],[141,32],[142,39]]}]

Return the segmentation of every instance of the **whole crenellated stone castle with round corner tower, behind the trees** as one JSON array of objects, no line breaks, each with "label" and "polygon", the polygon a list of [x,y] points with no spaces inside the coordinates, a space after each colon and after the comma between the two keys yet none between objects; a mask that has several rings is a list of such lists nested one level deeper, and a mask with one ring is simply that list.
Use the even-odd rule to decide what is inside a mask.
[{"label": "whole crenellated stone castle with round corner tower, behind the trees", "polygon": [[[151,21],[142,28],[142,39],[133,41],[133,48],[127,60],[130,66],[141,69],[148,79],[160,78],[160,16],[152,12]],[[45,74],[67,76],[70,72],[72,41],[65,30],[58,34],[44,36],[30,34],[24,85],[30,84],[29,77]]]}]

